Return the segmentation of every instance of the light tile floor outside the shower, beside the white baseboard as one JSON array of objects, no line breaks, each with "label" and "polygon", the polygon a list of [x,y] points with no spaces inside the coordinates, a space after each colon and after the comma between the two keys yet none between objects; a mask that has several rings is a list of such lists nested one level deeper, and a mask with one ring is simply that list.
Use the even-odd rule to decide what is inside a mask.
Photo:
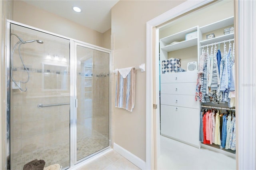
[{"label": "light tile floor outside the shower, beside the white baseboard", "polygon": [[140,170],[140,168],[113,150],[78,170]]}]

